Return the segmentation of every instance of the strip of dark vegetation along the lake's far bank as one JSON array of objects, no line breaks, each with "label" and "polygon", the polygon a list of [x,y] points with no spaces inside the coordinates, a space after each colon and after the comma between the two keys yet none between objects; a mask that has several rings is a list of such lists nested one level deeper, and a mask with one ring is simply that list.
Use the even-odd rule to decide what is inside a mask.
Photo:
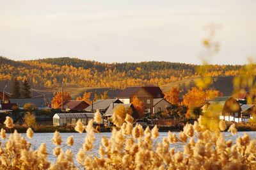
[{"label": "strip of dark vegetation along the lake's far bank", "polygon": [[[230,127],[233,123],[227,122],[227,127]],[[255,123],[235,123],[238,132],[248,132],[248,131],[256,131],[256,124]],[[134,125],[135,126],[135,125]],[[154,128],[154,125],[148,126],[150,129]],[[3,127],[1,127],[3,128]],[[145,129],[147,127],[143,127]],[[159,132],[180,132],[184,128],[184,125],[180,126],[170,126],[170,127],[158,127]],[[16,125],[13,127],[13,130],[17,130],[19,133],[26,133],[28,127],[22,125]],[[65,127],[56,127],[52,125],[37,125],[36,127],[32,127],[35,133],[54,133],[56,130],[61,133],[74,133],[76,130],[74,126],[65,126]],[[13,132],[12,130],[12,132]],[[111,132],[113,127],[100,127],[100,133]],[[6,133],[10,133],[10,130],[6,130]]]}]

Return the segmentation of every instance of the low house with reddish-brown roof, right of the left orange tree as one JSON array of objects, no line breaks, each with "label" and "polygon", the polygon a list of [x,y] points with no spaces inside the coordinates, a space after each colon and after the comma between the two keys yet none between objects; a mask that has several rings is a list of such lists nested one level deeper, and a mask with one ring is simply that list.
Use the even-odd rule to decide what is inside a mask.
[{"label": "low house with reddish-brown roof, right of the left orange tree", "polygon": [[[63,104],[63,109],[65,109],[66,111],[81,112],[84,111],[88,106],[89,104],[87,104],[83,100],[68,100]],[[61,109],[61,105],[59,109]]]}]

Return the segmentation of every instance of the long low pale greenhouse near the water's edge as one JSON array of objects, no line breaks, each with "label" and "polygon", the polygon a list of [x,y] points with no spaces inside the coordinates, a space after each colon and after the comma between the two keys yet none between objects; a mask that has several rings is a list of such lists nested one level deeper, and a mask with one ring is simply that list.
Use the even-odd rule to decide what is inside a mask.
[{"label": "long low pale greenhouse near the water's edge", "polygon": [[84,125],[88,124],[88,121],[93,120],[94,113],[92,112],[73,112],[73,113],[56,113],[52,117],[54,126],[67,126],[76,125],[80,119]]}]

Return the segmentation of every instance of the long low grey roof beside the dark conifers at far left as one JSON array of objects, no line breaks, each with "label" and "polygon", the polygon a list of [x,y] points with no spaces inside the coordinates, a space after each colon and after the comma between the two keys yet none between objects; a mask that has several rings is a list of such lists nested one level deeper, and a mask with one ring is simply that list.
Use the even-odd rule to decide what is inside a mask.
[{"label": "long low grey roof beside the dark conifers at far left", "polygon": [[11,104],[18,104],[19,107],[23,107],[24,104],[32,103],[37,107],[45,107],[44,98],[10,98]]}]

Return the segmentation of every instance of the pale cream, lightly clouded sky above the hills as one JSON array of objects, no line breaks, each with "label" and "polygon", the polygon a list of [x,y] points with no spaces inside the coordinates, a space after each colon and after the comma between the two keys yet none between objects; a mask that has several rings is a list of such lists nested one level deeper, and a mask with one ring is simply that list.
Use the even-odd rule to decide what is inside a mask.
[{"label": "pale cream, lightly clouded sky above the hills", "polygon": [[209,63],[256,57],[255,0],[0,0],[0,56],[100,62],[202,63],[205,27],[220,51]]}]

